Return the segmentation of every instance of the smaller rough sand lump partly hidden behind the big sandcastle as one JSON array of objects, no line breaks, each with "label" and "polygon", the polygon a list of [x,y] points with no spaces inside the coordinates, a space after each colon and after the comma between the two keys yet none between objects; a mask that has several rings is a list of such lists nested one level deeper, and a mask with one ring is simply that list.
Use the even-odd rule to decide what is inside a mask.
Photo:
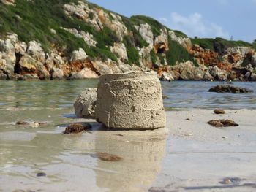
[{"label": "smaller rough sand lump partly hidden behind the big sandcastle", "polygon": [[87,88],[75,101],[75,115],[78,118],[95,118],[97,88]]}]

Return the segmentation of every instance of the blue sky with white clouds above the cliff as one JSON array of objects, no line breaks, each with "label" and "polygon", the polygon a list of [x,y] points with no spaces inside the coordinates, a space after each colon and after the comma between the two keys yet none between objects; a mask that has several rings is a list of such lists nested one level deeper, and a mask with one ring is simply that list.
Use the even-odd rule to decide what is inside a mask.
[{"label": "blue sky with white clouds above the cliff", "polygon": [[256,39],[256,0],[89,1],[127,17],[147,15],[189,37]]}]

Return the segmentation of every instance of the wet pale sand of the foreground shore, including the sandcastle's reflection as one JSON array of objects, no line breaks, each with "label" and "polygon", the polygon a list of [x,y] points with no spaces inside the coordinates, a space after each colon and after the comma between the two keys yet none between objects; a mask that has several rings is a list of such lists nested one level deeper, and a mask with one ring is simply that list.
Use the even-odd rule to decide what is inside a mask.
[{"label": "wet pale sand of the foreground shore, including the sandcastle's reflection", "polygon": [[[38,128],[1,123],[0,191],[256,191],[256,110],[171,111],[167,127],[154,131],[109,131],[87,120],[93,128],[75,135],[61,132],[86,120],[51,112]],[[214,128],[213,119],[239,126]]]}]

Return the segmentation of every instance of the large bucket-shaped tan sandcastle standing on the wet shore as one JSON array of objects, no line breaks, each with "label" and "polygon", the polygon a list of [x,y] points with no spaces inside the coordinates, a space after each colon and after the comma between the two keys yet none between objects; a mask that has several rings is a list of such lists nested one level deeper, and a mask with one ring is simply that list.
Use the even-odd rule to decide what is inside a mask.
[{"label": "large bucket-shaped tan sandcastle standing on the wet shore", "polygon": [[109,128],[165,127],[162,88],[157,73],[102,75],[97,89],[96,117]]}]

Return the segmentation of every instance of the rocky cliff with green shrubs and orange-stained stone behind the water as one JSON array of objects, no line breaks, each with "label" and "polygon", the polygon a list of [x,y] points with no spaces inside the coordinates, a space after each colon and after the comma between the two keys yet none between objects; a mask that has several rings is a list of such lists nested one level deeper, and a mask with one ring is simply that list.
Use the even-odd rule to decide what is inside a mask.
[{"label": "rocky cliff with green shrubs and orange-stained stone behind the water", "polygon": [[0,0],[0,12],[0,80],[148,70],[161,80],[256,80],[255,45],[247,42],[191,39],[88,1]]}]

